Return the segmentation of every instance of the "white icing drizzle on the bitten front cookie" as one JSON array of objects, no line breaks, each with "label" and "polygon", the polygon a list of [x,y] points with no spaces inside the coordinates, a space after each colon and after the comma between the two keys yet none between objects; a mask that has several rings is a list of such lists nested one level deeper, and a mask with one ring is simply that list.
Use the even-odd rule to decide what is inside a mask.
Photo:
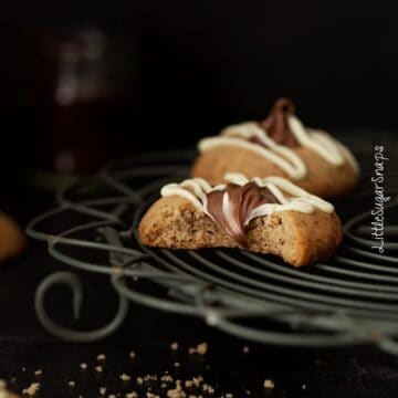
[{"label": "white icing drizzle on the bitten front cookie", "polygon": [[[277,199],[280,203],[265,203],[256,207],[248,216],[244,224],[256,217],[268,216],[274,212],[293,210],[303,213],[312,213],[315,209],[332,213],[334,207],[332,203],[323,200],[306,190],[298,188],[291,181],[282,177],[255,177],[249,180],[244,175],[230,172],[224,176],[226,181],[244,186],[252,181],[259,187],[266,187]],[[160,190],[163,197],[177,195],[191,201],[193,206],[212,218],[207,209],[207,193],[214,190],[222,190],[226,185],[211,187],[202,178],[192,178],[182,181],[181,184],[168,184]],[[224,192],[222,198],[222,210],[226,214],[232,214],[231,202],[228,200],[228,193]],[[238,228],[238,227],[237,227]]]}]

